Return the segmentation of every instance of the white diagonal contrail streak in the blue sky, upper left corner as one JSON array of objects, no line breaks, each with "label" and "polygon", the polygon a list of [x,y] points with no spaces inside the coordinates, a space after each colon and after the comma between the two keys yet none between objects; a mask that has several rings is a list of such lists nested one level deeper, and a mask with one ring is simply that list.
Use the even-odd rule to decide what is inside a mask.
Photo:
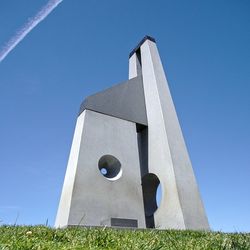
[{"label": "white diagonal contrail streak in the blue sky, upper left corner", "polygon": [[49,0],[49,2],[27,23],[17,31],[7,44],[0,50],[0,62],[33,30],[41,21],[43,21],[63,0]]}]

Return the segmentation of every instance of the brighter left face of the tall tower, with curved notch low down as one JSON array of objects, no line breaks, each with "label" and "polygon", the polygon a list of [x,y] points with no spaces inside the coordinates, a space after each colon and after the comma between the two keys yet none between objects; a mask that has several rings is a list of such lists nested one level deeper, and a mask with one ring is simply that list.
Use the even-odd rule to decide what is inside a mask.
[{"label": "brighter left face of the tall tower, with curved notch low down", "polygon": [[140,52],[148,117],[148,171],[159,178],[162,186],[161,204],[154,214],[155,227],[184,229],[185,223],[159,97],[156,76],[159,72],[155,72],[151,46],[155,46],[155,43],[146,40]]}]

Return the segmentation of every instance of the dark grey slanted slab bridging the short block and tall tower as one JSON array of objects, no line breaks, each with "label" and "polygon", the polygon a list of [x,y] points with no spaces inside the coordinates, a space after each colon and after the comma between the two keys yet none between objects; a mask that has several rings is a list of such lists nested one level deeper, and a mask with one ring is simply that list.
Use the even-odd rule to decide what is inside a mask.
[{"label": "dark grey slanted slab bridging the short block and tall tower", "polygon": [[132,78],[87,97],[81,105],[80,114],[85,109],[147,125],[142,77]]}]

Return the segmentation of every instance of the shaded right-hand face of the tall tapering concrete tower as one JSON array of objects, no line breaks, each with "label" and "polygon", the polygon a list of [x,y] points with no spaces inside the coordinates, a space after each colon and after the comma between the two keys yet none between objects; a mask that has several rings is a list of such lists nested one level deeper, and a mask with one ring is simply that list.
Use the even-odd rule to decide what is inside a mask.
[{"label": "shaded right-hand face of the tall tapering concrete tower", "polygon": [[[151,41],[145,42],[142,46],[142,53],[147,56],[147,58],[143,57],[143,70],[147,72],[148,76],[153,76],[158,89],[159,102],[161,105],[160,110],[162,111],[168,138],[185,228],[208,229],[208,220],[199,195],[191,161],[186,149],[156,44]],[[151,64],[150,66],[148,65],[150,69],[148,67],[145,68],[148,62]],[[145,78],[144,83],[146,82]]]}]

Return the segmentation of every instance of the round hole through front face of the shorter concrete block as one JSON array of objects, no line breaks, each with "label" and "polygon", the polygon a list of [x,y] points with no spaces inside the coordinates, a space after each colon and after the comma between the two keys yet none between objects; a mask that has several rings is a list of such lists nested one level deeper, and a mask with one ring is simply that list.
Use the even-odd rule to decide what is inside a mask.
[{"label": "round hole through front face of the shorter concrete block", "polygon": [[115,181],[122,176],[120,161],[113,155],[104,155],[98,162],[100,173],[108,180]]}]

